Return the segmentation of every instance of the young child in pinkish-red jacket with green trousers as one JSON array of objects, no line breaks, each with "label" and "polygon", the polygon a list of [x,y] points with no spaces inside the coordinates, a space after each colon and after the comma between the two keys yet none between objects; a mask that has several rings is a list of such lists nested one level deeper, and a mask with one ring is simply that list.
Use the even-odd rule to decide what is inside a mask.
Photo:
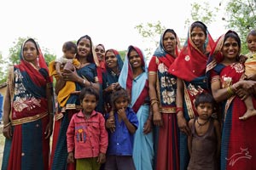
[{"label": "young child in pinkish-red jacket with green trousers", "polygon": [[99,94],[86,87],[79,99],[83,109],[73,115],[67,128],[67,162],[76,160],[76,169],[100,169],[106,161],[108,132],[102,113],[95,111]]}]

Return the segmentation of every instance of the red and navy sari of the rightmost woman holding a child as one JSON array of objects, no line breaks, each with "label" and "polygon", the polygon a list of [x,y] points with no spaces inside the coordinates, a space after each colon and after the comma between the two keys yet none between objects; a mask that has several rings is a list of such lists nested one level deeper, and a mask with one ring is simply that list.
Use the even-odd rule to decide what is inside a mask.
[{"label": "red and navy sari of the rightmost woman holding a child", "polygon": [[[207,65],[207,75],[212,81],[220,80],[221,88],[228,88],[240,81],[244,73],[244,65],[238,61],[231,65],[220,63],[223,60],[220,51],[224,44],[225,34],[218,38]],[[252,116],[246,121],[239,120],[239,117],[247,111],[247,108],[237,95],[230,96],[229,99],[225,99],[220,104],[222,105],[223,114],[221,169],[256,169],[256,136],[251,134],[256,130],[256,117]],[[253,98],[253,106],[254,108],[256,106],[255,98]]]}]

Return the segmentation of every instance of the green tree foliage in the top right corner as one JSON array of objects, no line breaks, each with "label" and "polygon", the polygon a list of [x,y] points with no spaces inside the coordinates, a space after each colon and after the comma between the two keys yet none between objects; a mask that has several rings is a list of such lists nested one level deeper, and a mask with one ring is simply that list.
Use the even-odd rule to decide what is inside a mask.
[{"label": "green tree foliage in the top right corner", "polygon": [[227,28],[236,31],[241,37],[241,54],[247,54],[247,34],[256,28],[256,1],[230,1],[226,6]]}]

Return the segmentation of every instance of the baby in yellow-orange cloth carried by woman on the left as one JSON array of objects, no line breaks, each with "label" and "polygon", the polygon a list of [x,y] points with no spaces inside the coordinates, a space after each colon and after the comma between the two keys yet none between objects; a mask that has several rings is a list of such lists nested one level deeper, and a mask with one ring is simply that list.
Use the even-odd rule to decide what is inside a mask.
[{"label": "baby in yellow-orange cloth carried by woman on the left", "polygon": [[[79,60],[75,59],[75,54],[78,52],[75,43],[65,42],[62,47],[62,52],[63,56],[60,59],[55,59],[49,63],[49,76],[54,76],[56,80],[63,80],[63,71],[74,70],[74,68],[79,69],[80,66]],[[75,83],[70,81],[67,81],[65,86],[61,88],[57,96],[61,108],[66,106],[68,97],[75,91],[75,89]]]}]

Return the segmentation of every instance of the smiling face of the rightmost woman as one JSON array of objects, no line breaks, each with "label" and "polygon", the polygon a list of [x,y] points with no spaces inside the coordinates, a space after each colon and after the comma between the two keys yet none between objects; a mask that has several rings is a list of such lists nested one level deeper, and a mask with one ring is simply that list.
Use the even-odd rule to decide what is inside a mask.
[{"label": "smiling face of the rightmost woman", "polygon": [[228,37],[221,48],[224,59],[231,60],[236,60],[239,50],[238,42],[236,42],[236,39],[233,37]]}]

